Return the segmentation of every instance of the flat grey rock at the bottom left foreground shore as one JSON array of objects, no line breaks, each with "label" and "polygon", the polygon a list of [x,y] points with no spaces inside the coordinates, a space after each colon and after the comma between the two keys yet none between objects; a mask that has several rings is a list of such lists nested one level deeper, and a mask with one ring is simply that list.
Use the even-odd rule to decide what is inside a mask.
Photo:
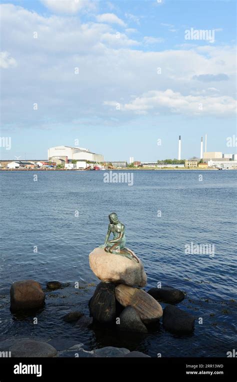
[{"label": "flat grey rock at the bottom left foreground shore", "polygon": [[11,357],[54,357],[55,348],[41,341],[18,340],[10,348]]}]

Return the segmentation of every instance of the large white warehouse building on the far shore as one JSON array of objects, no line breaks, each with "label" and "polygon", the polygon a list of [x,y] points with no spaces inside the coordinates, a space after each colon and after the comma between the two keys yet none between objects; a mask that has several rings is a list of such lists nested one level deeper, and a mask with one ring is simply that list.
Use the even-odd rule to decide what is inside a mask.
[{"label": "large white warehouse building on the far shore", "polygon": [[88,160],[90,162],[103,162],[103,155],[90,152],[82,147],[55,146],[47,150],[47,157],[67,157],[70,160]]}]

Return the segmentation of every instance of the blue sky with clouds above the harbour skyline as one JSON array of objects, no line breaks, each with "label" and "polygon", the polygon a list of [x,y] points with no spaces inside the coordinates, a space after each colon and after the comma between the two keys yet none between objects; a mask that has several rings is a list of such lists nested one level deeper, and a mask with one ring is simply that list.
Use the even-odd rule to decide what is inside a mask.
[{"label": "blue sky with clouds above the harbour skyline", "polygon": [[67,145],[156,161],[177,158],[179,135],[185,159],[205,134],[235,153],[235,14],[228,0],[1,1],[1,159]]}]

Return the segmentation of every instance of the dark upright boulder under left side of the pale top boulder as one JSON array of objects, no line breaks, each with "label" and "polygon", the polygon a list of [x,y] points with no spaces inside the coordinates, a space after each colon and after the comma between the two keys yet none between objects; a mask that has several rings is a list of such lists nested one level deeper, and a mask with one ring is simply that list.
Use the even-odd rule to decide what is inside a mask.
[{"label": "dark upright boulder under left side of the pale top boulder", "polygon": [[100,324],[112,323],[116,317],[115,285],[99,283],[89,301],[90,316]]}]

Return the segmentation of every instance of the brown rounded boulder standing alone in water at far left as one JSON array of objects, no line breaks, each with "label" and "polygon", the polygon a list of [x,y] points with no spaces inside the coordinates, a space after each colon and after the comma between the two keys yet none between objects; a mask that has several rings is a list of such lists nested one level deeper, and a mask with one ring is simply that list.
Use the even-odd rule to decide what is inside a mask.
[{"label": "brown rounded boulder standing alone in water at far left", "polygon": [[10,288],[10,310],[31,310],[41,308],[45,294],[41,286],[34,280],[16,281]]}]

